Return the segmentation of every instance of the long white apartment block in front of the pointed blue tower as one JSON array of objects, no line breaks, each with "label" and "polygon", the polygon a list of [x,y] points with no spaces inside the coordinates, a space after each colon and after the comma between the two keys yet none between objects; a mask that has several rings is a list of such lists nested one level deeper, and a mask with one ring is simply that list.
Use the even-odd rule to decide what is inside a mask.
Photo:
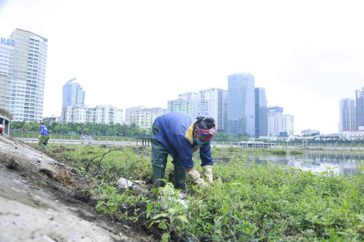
[{"label": "long white apartment block in front of the pointed blue tower", "polygon": [[90,107],[84,104],[63,107],[63,123],[102,123],[115,124],[123,122],[123,110],[108,106]]}]

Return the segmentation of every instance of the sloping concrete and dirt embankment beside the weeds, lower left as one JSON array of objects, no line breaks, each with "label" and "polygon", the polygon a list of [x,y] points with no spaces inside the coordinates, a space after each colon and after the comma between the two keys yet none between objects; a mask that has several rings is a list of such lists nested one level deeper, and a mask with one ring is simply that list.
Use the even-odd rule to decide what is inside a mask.
[{"label": "sloping concrete and dirt embankment beside the weeds, lower left", "polygon": [[37,149],[0,135],[0,241],[154,241],[95,210],[88,181]]}]

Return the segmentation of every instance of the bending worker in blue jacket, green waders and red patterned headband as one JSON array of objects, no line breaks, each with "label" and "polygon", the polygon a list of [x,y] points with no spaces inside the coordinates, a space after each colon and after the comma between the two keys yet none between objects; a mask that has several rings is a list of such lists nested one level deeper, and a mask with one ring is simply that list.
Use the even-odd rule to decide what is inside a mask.
[{"label": "bending worker in blue jacket, green waders and red patterned headband", "polygon": [[202,169],[213,182],[210,141],[216,133],[213,118],[198,117],[184,112],[169,112],[155,119],[151,130],[153,184],[162,186],[167,156],[173,157],[174,187],[186,190],[186,173],[199,187],[207,185],[194,168],[192,155],[199,150]]}]

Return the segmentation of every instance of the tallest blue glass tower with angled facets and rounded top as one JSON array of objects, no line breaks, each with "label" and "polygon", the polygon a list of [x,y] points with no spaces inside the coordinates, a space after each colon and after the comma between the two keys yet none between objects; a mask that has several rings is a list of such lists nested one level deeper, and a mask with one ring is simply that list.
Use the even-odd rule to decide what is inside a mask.
[{"label": "tallest blue glass tower with angled facets and rounded top", "polygon": [[255,136],[254,76],[237,72],[227,77],[227,133]]}]

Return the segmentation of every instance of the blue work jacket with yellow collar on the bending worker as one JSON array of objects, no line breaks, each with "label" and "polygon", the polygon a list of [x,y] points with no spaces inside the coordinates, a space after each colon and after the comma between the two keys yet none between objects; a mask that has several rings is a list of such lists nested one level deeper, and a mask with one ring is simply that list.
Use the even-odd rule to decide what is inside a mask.
[{"label": "blue work jacket with yellow collar on the bending worker", "polygon": [[197,121],[184,112],[169,112],[155,119],[159,132],[155,136],[172,156],[178,154],[182,167],[194,167],[192,154],[199,149],[201,166],[212,165],[210,140],[203,145],[193,140],[193,124]]}]

